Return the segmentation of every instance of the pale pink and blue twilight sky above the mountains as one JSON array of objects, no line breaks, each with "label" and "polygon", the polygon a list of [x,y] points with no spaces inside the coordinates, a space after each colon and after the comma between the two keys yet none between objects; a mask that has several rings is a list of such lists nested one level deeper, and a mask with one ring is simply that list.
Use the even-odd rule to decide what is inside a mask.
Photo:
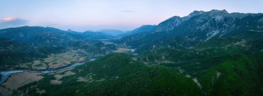
[{"label": "pale pink and blue twilight sky above the mountains", "polygon": [[263,0],[0,0],[0,29],[49,26],[62,30],[132,30],[194,10],[263,12]]}]

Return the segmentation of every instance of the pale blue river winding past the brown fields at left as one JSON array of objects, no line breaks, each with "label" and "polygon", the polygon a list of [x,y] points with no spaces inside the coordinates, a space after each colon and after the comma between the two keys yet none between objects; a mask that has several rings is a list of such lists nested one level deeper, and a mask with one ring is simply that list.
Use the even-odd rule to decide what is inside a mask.
[{"label": "pale blue river winding past the brown fields at left", "polygon": [[[95,59],[90,59],[89,61],[94,61],[94,60]],[[85,64],[86,62],[88,62],[88,61],[73,63],[73,64],[69,64],[69,66],[64,66],[61,68],[50,69],[50,70],[8,70],[8,71],[2,71],[2,72],[0,72],[0,74],[1,74],[0,86],[1,86],[1,84],[3,84],[8,79],[8,77],[10,75],[15,74],[15,73],[30,72],[30,73],[49,74],[49,73],[55,73],[55,72],[60,71],[60,70],[66,70],[69,68],[73,68],[75,66],[80,66],[82,64]]]}]

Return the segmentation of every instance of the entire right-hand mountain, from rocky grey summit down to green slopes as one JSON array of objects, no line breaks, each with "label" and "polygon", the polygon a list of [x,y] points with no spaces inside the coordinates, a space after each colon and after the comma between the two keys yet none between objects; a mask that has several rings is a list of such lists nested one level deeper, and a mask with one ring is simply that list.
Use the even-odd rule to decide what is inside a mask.
[{"label": "entire right-hand mountain, from rocky grey summit down to green slopes", "polygon": [[116,41],[136,48],[147,66],[166,66],[191,78],[205,95],[260,95],[263,14],[201,12],[172,17],[156,30]]}]

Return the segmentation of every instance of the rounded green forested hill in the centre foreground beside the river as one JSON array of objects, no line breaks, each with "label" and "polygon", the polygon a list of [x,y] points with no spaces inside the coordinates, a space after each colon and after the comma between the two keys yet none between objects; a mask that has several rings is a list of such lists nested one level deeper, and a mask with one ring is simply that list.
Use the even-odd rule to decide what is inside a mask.
[{"label": "rounded green forested hill in the centre foreground beside the river", "polygon": [[50,84],[50,80],[54,79],[53,75],[46,75],[38,83],[19,89],[28,89],[29,95],[38,95],[35,88],[45,89],[45,95],[203,94],[194,81],[179,75],[176,70],[161,66],[146,67],[122,54],[107,55],[71,71],[75,75],[63,77],[61,85]]}]

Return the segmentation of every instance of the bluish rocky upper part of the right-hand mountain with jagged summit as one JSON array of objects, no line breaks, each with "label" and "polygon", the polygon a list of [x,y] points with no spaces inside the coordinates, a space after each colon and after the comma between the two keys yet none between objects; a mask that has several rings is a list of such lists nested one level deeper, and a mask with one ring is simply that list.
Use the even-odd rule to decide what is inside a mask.
[{"label": "bluish rocky upper part of the right-hand mountain with jagged summit", "polygon": [[[142,50],[170,46],[189,48],[203,41],[221,38],[236,31],[260,31],[263,14],[228,13],[226,10],[194,11],[187,17],[172,17],[152,32],[138,33],[119,39]],[[252,32],[255,33],[255,32]],[[238,35],[238,34],[233,34]],[[233,37],[233,36],[232,36]],[[138,50],[138,51],[139,51]]]}]

